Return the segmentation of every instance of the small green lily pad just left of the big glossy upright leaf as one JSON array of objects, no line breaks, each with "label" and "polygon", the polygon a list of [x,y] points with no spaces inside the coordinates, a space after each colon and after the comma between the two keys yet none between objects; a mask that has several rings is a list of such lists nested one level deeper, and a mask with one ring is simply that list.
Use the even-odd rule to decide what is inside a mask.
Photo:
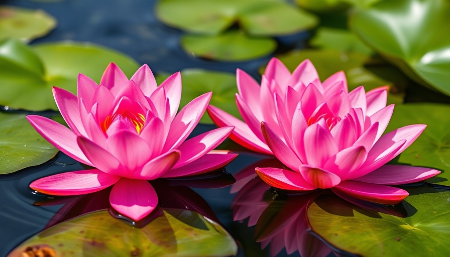
[{"label": "small green lily pad just left of the big glossy upright leaf", "polygon": [[374,53],[355,34],[343,29],[320,27],[311,39],[310,45],[317,48],[357,52],[366,55]]}]

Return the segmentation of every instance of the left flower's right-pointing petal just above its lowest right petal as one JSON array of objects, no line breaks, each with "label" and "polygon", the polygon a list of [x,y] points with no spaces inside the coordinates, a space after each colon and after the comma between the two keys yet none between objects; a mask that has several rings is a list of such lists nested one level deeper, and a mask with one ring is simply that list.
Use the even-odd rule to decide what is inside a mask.
[{"label": "left flower's right-pointing petal just above its lowest right petal", "polygon": [[183,142],[177,148],[181,153],[181,157],[173,168],[179,168],[202,157],[222,143],[233,129],[234,127],[232,126],[220,127]]}]

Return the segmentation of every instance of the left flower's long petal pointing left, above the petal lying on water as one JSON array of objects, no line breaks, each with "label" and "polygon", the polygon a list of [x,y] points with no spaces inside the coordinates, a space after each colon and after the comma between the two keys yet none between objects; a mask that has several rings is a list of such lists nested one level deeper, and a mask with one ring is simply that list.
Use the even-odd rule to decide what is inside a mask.
[{"label": "left flower's long petal pointing left, above the petal lying on water", "polygon": [[46,117],[28,115],[28,121],[41,136],[69,157],[92,166],[76,144],[76,135],[64,125]]}]

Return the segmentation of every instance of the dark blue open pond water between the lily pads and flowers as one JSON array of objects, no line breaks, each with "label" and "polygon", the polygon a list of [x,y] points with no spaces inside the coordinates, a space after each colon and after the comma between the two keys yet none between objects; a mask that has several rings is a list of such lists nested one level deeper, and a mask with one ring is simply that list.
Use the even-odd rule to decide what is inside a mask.
[{"label": "dark blue open pond water between the lily pads and flowers", "polygon": [[[58,20],[58,26],[54,31],[44,38],[35,40],[32,44],[60,40],[98,43],[126,53],[141,64],[147,63],[156,73],[176,72],[184,68],[205,68],[234,73],[236,68],[239,67],[257,77],[257,69],[270,59],[270,56],[268,56],[248,62],[224,63],[193,58],[187,55],[179,46],[179,38],[182,32],[162,25],[155,18],[155,1],[66,0],[47,3],[44,1],[10,0],[3,1],[2,4],[32,9],[40,8]],[[304,35],[295,36],[296,40],[302,36]],[[287,45],[291,42],[291,38],[280,40],[283,40]],[[291,45],[291,47],[299,47],[299,45]],[[212,128],[212,125],[199,125],[193,135],[198,135]],[[266,158],[266,156],[242,152],[235,161],[228,165],[227,171],[236,174],[246,166],[263,158]],[[50,174],[78,169],[82,169],[79,163],[60,153],[54,160],[38,167],[0,176],[0,256],[6,255],[19,243],[41,231],[63,206],[62,203],[44,206],[34,205],[37,202],[48,200],[48,198],[33,193],[28,185],[33,180]],[[262,187],[262,193],[267,191],[264,185]],[[233,221],[231,206],[236,192],[231,194],[230,187],[194,190],[206,200],[220,223],[239,242],[240,256],[270,255],[269,247],[261,250],[260,243],[255,242],[255,228],[254,226],[248,227],[248,220],[243,222]],[[249,203],[248,201],[244,199],[241,204],[244,203],[245,205]],[[255,206],[254,208],[256,214],[253,216],[258,216],[258,211],[261,212],[265,206]],[[246,216],[242,215],[243,217]],[[280,245],[280,242],[278,242],[278,245]],[[287,255],[287,253],[283,249],[280,255]],[[298,252],[294,253],[293,256],[298,256]]]}]

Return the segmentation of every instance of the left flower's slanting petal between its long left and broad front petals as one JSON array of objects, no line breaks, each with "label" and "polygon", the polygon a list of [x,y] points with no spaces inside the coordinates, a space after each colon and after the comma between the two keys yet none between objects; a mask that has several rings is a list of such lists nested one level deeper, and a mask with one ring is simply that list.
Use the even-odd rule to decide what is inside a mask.
[{"label": "left flower's slanting petal between its long left and broad front petals", "polygon": [[86,154],[86,157],[92,163],[91,166],[94,166],[102,172],[106,172],[110,175],[126,175],[126,170],[124,166],[119,162],[119,160],[117,160],[116,157],[111,155],[102,147],[82,136],[77,138],[77,143],[80,149],[83,150],[84,154]]}]

